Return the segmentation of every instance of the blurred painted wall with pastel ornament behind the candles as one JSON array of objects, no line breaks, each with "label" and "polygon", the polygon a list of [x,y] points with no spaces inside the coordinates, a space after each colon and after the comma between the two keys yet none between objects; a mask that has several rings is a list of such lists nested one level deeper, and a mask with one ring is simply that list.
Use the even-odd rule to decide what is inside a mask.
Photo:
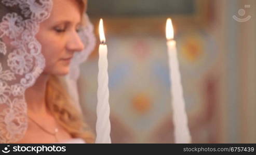
[{"label": "blurred painted wall with pastel ornament behind the candles", "polygon": [[[106,14],[103,18],[109,48],[113,143],[174,142],[164,34],[166,18],[169,16],[173,19],[177,40],[192,142],[255,143],[256,136],[249,129],[255,129],[255,123],[251,122],[255,118],[240,113],[253,113],[248,107],[255,107],[253,104],[256,100],[251,91],[255,92],[254,86],[256,87],[253,70],[256,60],[252,57],[255,56],[252,53],[256,49],[253,44],[256,41],[253,24],[255,26],[256,22],[252,19],[247,25],[242,25],[249,26],[248,32],[253,32],[254,37],[247,39],[247,43],[240,44],[238,42],[242,39],[237,37],[247,38],[247,31],[241,30],[240,23],[232,19],[232,14],[244,6],[244,3],[255,5],[255,2],[233,1],[227,5],[221,1],[197,0],[190,3],[195,9],[189,14],[178,11],[147,17],[136,17],[136,13],[132,17],[113,14],[111,17],[111,13],[93,8],[97,5],[90,4],[89,1],[89,14],[92,11],[91,19],[95,25],[98,25],[101,18],[99,14]],[[97,4],[100,3],[97,1]],[[93,10],[98,13],[93,14]],[[252,13],[251,10],[250,14]],[[97,28],[98,26],[96,34]],[[248,44],[249,48],[244,50]],[[244,59],[240,61],[241,55]],[[251,63],[246,64],[246,60]],[[248,66],[249,69],[245,71]],[[98,47],[81,68],[80,101],[85,119],[95,130]],[[241,75],[244,72],[250,74],[250,77]],[[246,89],[248,93],[240,91],[242,89]],[[246,107],[241,110],[240,107],[244,106]],[[244,124],[244,120],[248,122]],[[250,133],[245,135],[246,131]]]}]

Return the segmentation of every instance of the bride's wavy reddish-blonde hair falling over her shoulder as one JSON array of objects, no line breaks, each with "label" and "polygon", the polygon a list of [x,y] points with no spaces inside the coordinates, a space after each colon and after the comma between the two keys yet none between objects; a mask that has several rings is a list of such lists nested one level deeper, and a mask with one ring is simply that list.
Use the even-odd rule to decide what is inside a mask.
[{"label": "bride's wavy reddish-blonde hair falling over her shoulder", "polygon": [[[86,0],[76,0],[81,13],[86,10]],[[83,138],[86,143],[95,143],[95,135],[83,120],[82,114],[72,104],[62,81],[56,75],[51,75],[46,86],[46,105],[50,113],[73,138]]]}]

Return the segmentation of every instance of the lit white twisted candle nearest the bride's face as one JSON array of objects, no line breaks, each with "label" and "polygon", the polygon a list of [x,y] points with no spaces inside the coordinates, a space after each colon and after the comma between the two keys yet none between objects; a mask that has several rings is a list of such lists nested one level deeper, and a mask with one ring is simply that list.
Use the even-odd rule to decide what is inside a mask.
[{"label": "lit white twisted candle nearest the bride's face", "polygon": [[96,143],[111,143],[110,137],[110,105],[109,105],[109,75],[107,73],[107,45],[103,21],[99,24],[100,46],[99,46],[99,73],[98,73],[98,103],[96,122]]}]

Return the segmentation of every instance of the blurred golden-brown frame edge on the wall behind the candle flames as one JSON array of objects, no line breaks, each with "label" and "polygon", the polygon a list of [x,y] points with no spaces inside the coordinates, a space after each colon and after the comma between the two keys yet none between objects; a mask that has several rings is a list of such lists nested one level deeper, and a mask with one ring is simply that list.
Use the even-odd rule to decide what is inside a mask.
[{"label": "blurred golden-brown frame edge on the wall behind the candle flames", "polygon": [[[214,3],[210,0],[195,0],[196,12],[192,15],[173,15],[174,29],[183,30],[187,28],[195,28],[198,26],[208,25],[210,20],[207,17],[209,12],[208,8]],[[214,7],[214,6],[213,6]],[[157,17],[105,17],[104,27],[105,33],[109,34],[122,34],[129,35],[134,34],[151,34],[151,35],[164,35],[165,34],[165,22],[169,16],[157,16]],[[99,19],[93,17],[92,23],[96,25],[96,34],[98,34]],[[148,26],[150,25],[150,26]],[[124,30],[125,29],[125,30]]]}]

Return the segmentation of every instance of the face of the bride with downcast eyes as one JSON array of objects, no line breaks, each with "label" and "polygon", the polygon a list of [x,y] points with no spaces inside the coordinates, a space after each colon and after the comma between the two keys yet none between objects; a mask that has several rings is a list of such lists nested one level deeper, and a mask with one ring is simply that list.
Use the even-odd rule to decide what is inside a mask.
[{"label": "face of the bride with downcast eyes", "polygon": [[74,0],[53,0],[50,17],[40,24],[36,38],[46,60],[44,74],[69,73],[74,53],[84,49],[77,33],[82,20],[78,5]]}]

